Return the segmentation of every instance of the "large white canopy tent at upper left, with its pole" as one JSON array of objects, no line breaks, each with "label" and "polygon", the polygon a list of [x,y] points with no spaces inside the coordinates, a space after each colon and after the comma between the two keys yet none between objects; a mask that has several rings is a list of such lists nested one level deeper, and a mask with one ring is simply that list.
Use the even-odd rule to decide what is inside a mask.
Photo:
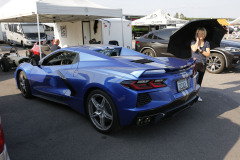
[{"label": "large white canopy tent at upper left, with its pole", "polygon": [[[111,9],[89,0],[9,0],[0,7],[0,22],[55,23],[122,18],[122,9]],[[40,33],[38,34],[40,41]],[[41,47],[40,53],[41,53]],[[40,54],[41,58],[41,54]]]}]

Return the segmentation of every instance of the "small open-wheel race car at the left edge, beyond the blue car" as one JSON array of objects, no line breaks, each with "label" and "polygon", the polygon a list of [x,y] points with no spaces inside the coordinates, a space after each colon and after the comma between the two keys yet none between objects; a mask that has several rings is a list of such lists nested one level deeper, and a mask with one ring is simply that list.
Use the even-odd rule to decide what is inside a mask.
[{"label": "small open-wheel race car at the left edge, beyond the blue car", "polygon": [[0,55],[0,68],[3,72],[8,72],[12,68],[16,68],[23,62],[29,62],[30,58],[20,56],[15,47],[12,47],[8,53]]}]

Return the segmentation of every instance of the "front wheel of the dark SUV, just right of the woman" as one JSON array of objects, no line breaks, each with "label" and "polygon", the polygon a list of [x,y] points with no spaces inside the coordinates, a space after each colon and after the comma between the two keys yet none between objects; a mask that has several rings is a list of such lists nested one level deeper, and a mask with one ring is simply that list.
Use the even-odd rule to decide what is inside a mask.
[{"label": "front wheel of the dark SUV, just right of the woman", "polygon": [[221,73],[225,68],[225,59],[223,55],[219,53],[211,53],[207,59],[207,71],[210,73]]}]

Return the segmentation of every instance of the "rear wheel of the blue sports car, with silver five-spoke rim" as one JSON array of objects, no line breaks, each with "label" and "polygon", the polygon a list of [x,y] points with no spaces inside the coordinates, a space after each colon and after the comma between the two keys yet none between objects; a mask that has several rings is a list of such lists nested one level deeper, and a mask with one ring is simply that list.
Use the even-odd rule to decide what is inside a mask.
[{"label": "rear wheel of the blue sports car, with silver five-spoke rim", "polygon": [[107,93],[92,91],[87,97],[86,105],[89,119],[99,132],[109,133],[119,126],[115,103]]}]

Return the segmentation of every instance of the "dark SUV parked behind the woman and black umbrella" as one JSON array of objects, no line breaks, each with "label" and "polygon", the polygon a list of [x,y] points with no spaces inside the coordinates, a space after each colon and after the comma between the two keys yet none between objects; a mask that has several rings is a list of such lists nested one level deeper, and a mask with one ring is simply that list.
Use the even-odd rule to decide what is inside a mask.
[{"label": "dark SUV parked behind the woman and black umbrella", "polygon": [[[161,29],[149,32],[138,38],[135,50],[152,57],[174,57],[167,53],[170,36],[178,28]],[[236,67],[240,64],[240,42],[222,40],[220,47],[211,50],[211,55],[207,59],[207,71],[210,73],[220,73],[224,68]]]}]

